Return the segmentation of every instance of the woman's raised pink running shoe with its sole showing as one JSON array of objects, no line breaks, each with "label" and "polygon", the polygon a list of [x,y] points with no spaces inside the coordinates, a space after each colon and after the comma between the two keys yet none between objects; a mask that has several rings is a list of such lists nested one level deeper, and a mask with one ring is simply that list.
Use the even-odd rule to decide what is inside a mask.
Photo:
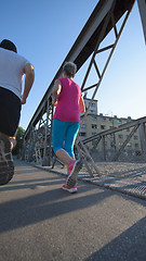
[{"label": "woman's raised pink running shoe with its sole showing", "polygon": [[68,176],[66,179],[66,188],[67,189],[74,188],[74,186],[76,185],[78,173],[81,170],[81,167],[82,167],[82,163],[80,160],[72,160],[69,163]]}]

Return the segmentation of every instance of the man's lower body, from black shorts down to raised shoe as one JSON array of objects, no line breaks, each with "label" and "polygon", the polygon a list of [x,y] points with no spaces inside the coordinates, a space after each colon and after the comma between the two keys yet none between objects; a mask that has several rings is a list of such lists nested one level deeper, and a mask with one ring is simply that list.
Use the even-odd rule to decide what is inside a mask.
[{"label": "man's lower body, from black shorts down to raised shoe", "polygon": [[9,183],[14,175],[13,136],[18,126],[21,108],[21,99],[12,91],[0,87],[0,185]]}]

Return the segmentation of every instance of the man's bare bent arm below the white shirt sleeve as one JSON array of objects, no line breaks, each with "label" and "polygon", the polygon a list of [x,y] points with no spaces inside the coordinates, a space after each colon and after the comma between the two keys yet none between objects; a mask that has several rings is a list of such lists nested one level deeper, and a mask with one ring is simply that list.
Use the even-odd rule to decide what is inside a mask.
[{"label": "man's bare bent arm below the white shirt sleeve", "polygon": [[31,86],[34,84],[35,80],[35,71],[34,71],[34,66],[30,63],[26,63],[25,69],[24,69],[24,73],[25,73],[25,87],[24,87],[24,92],[22,96],[22,104],[26,103],[26,99],[29,95],[29,91],[31,89]]}]

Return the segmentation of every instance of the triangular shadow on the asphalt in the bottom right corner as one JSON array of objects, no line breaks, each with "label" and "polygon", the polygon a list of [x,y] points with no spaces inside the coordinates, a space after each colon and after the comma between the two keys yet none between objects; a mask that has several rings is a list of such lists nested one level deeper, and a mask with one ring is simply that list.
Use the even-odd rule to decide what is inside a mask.
[{"label": "triangular shadow on the asphalt in the bottom right corner", "polygon": [[84,261],[146,261],[146,217]]}]

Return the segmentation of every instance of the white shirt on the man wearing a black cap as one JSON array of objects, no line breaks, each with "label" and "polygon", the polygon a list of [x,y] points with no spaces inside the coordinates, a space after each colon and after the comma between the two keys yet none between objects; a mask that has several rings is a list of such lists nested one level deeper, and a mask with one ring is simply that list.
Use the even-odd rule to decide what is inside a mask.
[{"label": "white shirt on the man wearing a black cap", "polygon": [[29,62],[19,54],[0,48],[0,87],[11,90],[19,99],[26,63]]}]

